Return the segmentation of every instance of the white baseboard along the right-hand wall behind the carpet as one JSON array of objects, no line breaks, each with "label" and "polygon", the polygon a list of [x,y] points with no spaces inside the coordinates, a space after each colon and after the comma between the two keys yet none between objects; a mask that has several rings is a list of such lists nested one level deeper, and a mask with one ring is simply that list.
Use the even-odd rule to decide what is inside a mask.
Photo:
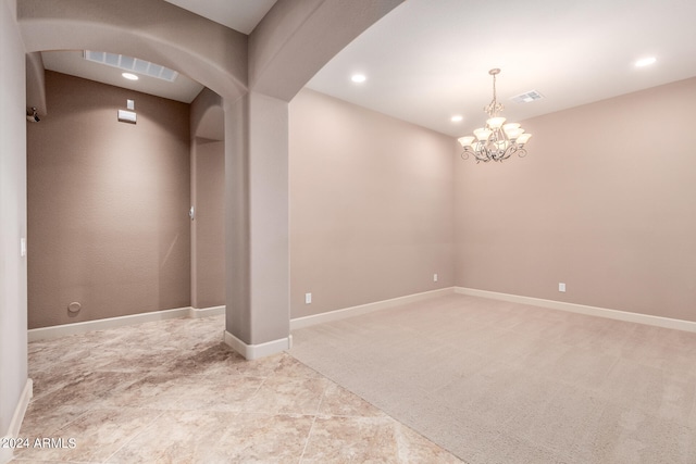
[{"label": "white baseboard along the right-hand wall behind the carpet", "polygon": [[652,316],[648,314],[630,313],[627,311],[609,310],[606,308],[587,306],[584,304],[567,303],[563,301],[544,300],[540,298],[521,297],[519,294],[499,293],[474,288],[455,287],[455,292],[471,297],[490,298],[494,300],[509,301],[512,303],[530,304],[549,310],[568,311],[588,316],[606,317],[609,319],[625,321],[636,324],[651,325],[656,327],[672,328],[676,330],[696,333],[696,323],[691,321],[673,319],[670,317]]}]

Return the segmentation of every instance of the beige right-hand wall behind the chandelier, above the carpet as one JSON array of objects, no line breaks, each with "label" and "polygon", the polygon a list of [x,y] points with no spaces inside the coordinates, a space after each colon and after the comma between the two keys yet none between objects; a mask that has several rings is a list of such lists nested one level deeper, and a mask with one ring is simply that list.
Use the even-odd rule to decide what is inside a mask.
[{"label": "beige right-hand wall behind the chandelier, above the carpet", "polygon": [[696,321],[695,106],[691,78],[526,121],[523,160],[458,161],[457,285]]}]

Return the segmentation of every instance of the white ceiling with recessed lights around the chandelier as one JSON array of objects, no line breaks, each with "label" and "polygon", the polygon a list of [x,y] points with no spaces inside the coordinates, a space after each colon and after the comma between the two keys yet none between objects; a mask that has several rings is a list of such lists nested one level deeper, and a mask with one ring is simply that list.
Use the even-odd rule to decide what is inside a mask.
[{"label": "white ceiling with recessed lights around the chandelier", "polygon": [[[245,34],[275,3],[166,1]],[[696,76],[695,17],[694,0],[407,0],[338,53],[308,87],[460,136],[485,121],[493,67],[502,70],[498,100],[511,121]],[[634,66],[648,55],[657,58],[654,65]],[[47,60],[47,67],[61,71],[55,68],[61,60]],[[355,72],[368,79],[351,83]],[[509,100],[530,90],[545,98]],[[452,123],[455,114],[463,121]]]}]

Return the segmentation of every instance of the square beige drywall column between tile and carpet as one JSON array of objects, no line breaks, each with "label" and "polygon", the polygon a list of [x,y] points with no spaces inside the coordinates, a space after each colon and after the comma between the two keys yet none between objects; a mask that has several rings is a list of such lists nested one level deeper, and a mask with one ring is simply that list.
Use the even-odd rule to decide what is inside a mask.
[{"label": "square beige drywall column between tile and carpet", "polygon": [[256,92],[225,101],[225,258],[226,331],[247,347],[288,339],[288,103]]}]

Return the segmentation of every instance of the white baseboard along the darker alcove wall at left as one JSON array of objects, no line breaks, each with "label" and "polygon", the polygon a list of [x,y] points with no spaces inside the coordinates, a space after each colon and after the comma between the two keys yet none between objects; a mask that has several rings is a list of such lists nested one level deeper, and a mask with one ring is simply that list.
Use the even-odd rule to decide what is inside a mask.
[{"label": "white baseboard along the darker alcove wall at left", "polygon": [[85,321],[82,323],[33,328],[27,330],[27,337],[28,341],[48,340],[52,338],[66,337],[69,335],[85,334],[91,330],[105,330],[109,328],[150,323],[154,321],[166,321],[185,317],[208,317],[224,313],[225,306],[213,306],[203,309],[185,306],[174,310],[152,311],[149,313],[130,314],[127,316],[109,317],[104,319]]}]

